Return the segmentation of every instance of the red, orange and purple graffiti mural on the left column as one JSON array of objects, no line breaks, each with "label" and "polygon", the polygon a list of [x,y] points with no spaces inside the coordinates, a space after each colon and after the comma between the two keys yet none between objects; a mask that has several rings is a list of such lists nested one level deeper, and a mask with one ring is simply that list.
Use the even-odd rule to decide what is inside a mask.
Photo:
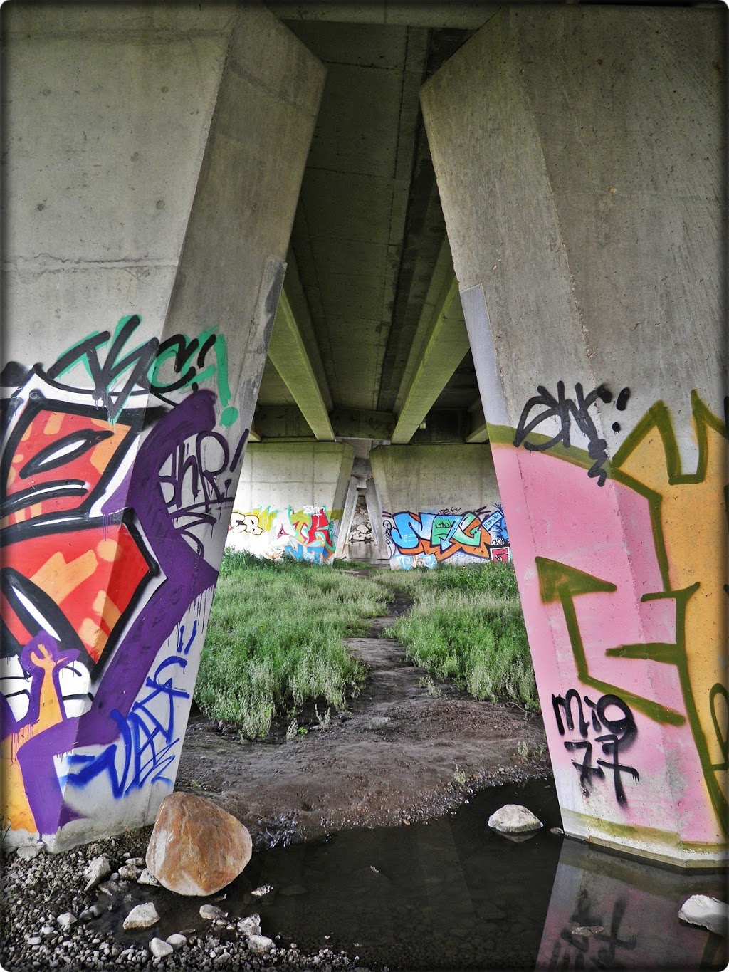
[{"label": "red, orange and purple graffiti mural on the left column", "polygon": [[114,800],[147,787],[147,803],[174,779],[247,431],[225,338],[140,341],[140,324],[1,376],[11,837],[86,816],[103,775]]}]

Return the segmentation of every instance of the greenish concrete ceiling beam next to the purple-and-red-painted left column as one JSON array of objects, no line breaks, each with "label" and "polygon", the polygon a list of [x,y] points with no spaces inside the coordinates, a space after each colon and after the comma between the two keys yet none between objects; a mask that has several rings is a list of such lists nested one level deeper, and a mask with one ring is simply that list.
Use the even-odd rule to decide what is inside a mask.
[{"label": "greenish concrete ceiling beam next to the purple-and-red-painted left column", "polygon": [[332,441],[334,433],[327,404],[304,347],[286,290],[281,293],[276,311],[268,357],[286,382],[311,431],[320,440]]}]

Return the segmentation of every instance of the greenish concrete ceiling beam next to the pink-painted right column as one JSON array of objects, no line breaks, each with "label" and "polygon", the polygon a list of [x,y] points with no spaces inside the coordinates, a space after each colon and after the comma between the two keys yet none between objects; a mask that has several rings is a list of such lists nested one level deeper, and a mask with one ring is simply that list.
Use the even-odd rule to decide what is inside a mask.
[{"label": "greenish concrete ceiling beam next to the pink-painted right column", "polygon": [[405,369],[404,380],[408,380],[408,375],[412,377],[406,391],[400,387],[398,398],[404,400],[392,435],[393,443],[410,441],[468,350],[469,334],[446,240],[438,255],[413,352]]}]

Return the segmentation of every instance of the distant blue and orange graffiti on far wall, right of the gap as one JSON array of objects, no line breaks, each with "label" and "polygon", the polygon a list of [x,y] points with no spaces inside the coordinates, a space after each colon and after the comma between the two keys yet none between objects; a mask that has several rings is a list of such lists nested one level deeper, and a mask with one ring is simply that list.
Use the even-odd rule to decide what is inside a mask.
[{"label": "distant blue and orange graffiti on far wall, right of the gap", "polygon": [[501,503],[474,511],[383,512],[390,566],[409,570],[436,564],[508,561],[511,548]]}]

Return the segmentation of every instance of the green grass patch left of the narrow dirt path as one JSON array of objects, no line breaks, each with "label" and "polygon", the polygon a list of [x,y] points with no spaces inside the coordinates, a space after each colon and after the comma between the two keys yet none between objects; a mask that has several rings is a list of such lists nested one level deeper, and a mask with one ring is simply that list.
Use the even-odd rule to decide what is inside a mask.
[{"label": "green grass patch left of the narrow dirt path", "polygon": [[344,708],[364,666],[342,639],[385,612],[376,584],[292,559],[226,551],[194,698],[211,718],[265,736],[307,703]]}]

